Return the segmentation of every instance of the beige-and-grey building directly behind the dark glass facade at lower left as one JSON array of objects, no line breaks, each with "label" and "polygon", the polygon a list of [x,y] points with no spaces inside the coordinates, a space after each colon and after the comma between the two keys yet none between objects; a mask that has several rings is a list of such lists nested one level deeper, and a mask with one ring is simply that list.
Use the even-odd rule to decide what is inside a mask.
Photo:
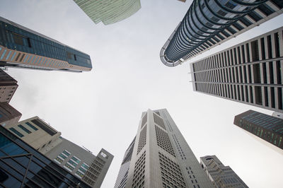
[{"label": "beige-and-grey building directly behind the dark glass facade at lower left", "polygon": [[104,149],[93,155],[86,148],[62,138],[61,132],[39,117],[25,119],[6,129],[90,187],[101,186],[113,159]]}]

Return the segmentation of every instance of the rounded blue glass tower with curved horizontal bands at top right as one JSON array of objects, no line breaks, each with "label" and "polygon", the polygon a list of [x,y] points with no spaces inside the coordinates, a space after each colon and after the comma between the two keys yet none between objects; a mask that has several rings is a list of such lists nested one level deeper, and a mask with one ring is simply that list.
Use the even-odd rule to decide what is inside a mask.
[{"label": "rounded blue glass tower with curved horizontal bands at top right", "polygon": [[177,66],[282,12],[282,0],[194,0],[161,48],[161,61]]}]

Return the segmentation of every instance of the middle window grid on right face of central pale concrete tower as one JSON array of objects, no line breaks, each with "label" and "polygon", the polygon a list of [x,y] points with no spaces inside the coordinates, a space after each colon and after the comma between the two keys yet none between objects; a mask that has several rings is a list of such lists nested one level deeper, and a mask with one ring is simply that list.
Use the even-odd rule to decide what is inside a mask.
[{"label": "middle window grid on right face of central pale concrete tower", "polygon": [[173,150],[173,147],[172,147],[172,144],[171,144],[171,141],[170,141],[170,138],[167,132],[163,131],[163,129],[159,128],[156,125],[155,125],[155,132],[156,132],[157,145],[175,157],[175,152]]}]

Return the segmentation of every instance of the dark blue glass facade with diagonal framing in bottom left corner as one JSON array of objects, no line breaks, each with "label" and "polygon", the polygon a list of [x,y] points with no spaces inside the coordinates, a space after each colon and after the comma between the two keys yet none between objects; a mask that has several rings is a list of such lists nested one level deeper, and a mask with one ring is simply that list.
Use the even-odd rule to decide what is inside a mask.
[{"label": "dark blue glass facade with diagonal framing in bottom left corner", "polygon": [[89,187],[0,126],[0,187]]}]

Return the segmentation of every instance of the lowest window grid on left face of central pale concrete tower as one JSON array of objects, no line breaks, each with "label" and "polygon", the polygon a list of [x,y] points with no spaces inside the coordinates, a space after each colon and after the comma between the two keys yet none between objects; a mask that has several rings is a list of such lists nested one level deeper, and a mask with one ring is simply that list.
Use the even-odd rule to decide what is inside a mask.
[{"label": "lowest window grid on left face of central pale concrete tower", "polygon": [[132,181],[133,188],[144,187],[145,168],[146,168],[146,151],[142,153],[142,155],[134,164],[134,176]]}]

